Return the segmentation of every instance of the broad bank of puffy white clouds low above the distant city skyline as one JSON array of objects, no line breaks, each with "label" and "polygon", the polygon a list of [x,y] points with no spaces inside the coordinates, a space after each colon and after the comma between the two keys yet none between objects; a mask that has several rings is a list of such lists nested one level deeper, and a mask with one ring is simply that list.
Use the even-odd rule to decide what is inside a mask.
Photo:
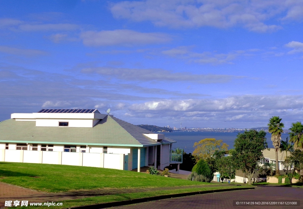
[{"label": "broad bank of puffy white clouds low above the distant city skyline", "polygon": [[[128,107],[129,117],[145,118],[147,114],[168,121],[187,121],[195,124],[221,124],[230,121],[238,127],[245,124],[266,125],[273,115],[279,115],[283,121],[302,120],[302,95],[239,95],[227,98],[189,99],[189,100],[152,100],[136,103]],[[128,116],[125,114],[125,116]],[[207,121],[207,122],[206,122]],[[246,127],[245,127],[246,126]]]}]

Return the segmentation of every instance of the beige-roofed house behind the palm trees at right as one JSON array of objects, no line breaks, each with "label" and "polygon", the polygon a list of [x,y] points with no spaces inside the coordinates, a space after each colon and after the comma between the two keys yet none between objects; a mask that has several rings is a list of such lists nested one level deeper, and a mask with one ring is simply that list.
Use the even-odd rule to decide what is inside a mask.
[{"label": "beige-roofed house behind the palm trees at right", "polygon": [[[260,160],[260,164],[265,164],[265,163],[276,163],[276,153],[275,153],[275,149],[270,149],[270,150],[263,150],[263,158]],[[290,154],[290,153],[289,153]],[[281,162],[285,161],[285,157],[286,157],[286,153],[284,152],[280,152],[278,151],[278,166],[279,166],[279,170],[280,170],[280,174],[285,174],[285,171],[283,171],[283,164]],[[255,172],[255,174],[252,177],[252,180],[255,178],[255,181],[266,181],[266,173],[258,173]],[[245,174],[238,170],[236,171],[236,175],[235,175],[235,182],[238,183],[247,183],[248,182],[248,178],[245,176]]]}]

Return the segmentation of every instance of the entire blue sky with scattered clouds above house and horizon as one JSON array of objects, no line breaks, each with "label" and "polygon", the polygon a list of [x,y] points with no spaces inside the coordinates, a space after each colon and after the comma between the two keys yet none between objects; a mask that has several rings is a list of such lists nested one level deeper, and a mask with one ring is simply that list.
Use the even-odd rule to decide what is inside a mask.
[{"label": "entire blue sky with scattered clouds above house and horizon", "polygon": [[111,108],[133,124],[302,121],[303,1],[1,1],[0,120]]}]

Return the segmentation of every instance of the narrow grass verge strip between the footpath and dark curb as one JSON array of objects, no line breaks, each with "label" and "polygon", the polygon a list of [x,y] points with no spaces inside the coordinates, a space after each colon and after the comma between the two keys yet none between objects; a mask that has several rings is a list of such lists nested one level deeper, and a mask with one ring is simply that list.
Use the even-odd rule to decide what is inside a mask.
[{"label": "narrow grass verge strip between the footpath and dark curb", "polygon": [[[248,187],[248,186],[241,186],[241,188]],[[175,189],[175,190],[166,190],[166,191],[153,191],[153,192],[140,192],[140,193],[127,193],[127,194],[113,194],[113,195],[105,195],[105,196],[98,196],[98,197],[88,197],[82,198],[77,200],[66,200],[62,201],[62,206],[50,206],[48,208],[52,209],[59,209],[59,208],[68,208],[74,206],[83,206],[83,205],[92,205],[92,204],[100,204],[100,203],[107,203],[107,202],[116,202],[116,201],[123,201],[123,200],[133,200],[143,197],[155,197],[167,194],[180,194],[180,193],[187,193],[187,192],[197,192],[197,191],[210,191],[210,190],[220,190],[220,189],[228,189],[228,188],[235,188],[235,186],[223,186],[223,187],[204,187],[204,188],[190,188],[190,189]],[[47,207],[47,206],[44,206]],[[37,208],[37,206],[29,206],[28,207],[21,207],[22,209],[32,209]]]}]

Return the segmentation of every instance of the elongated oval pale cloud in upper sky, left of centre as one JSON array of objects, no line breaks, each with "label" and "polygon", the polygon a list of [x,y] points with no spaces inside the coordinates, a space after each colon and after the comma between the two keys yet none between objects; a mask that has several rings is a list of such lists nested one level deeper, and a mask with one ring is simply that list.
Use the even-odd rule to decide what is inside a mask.
[{"label": "elongated oval pale cloud in upper sky, left of centre", "polygon": [[80,37],[87,46],[157,44],[171,40],[164,33],[141,33],[132,30],[86,31]]}]

